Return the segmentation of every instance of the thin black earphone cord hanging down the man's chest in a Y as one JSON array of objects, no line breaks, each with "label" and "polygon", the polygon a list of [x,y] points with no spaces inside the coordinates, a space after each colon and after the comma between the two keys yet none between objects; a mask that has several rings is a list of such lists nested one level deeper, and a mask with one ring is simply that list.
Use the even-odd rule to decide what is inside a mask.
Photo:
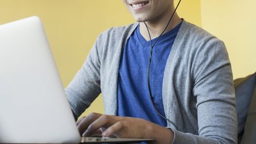
[{"label": "thin black earphone cord hanging down the man's chest in a Y", "polygon": [[178,129],[177,129],[177,126],[175,126],[175,124],[174,124],[171,120],[169,120],[169,119],[167,119],[166,117],[162,116],[162,114],[159,113],[159,111],[157,110],[157,108],[156,108],[156,106],[155,106],[155,103],[153,102],[153,96],[152,96],[152,91],[151,91],[151,85],[150,85],[150,81],[149,81],[149,80],[150,80],[150,79],[149,79],[149,69],[150,69],[150,66],[151,66],[151,60],[152,60],[152,54],[153,54],[153,47],[155,46],[156,41],[158,41],[158,39],[159,39],[159,38],[162,36],[162,34],[165,32],[165,30],[167,30],[167,27],[168,27],[169,23],[171,22],[172,17],[174,16],[174,14],[175,14],[175,12],[176,12],[178,6],[180,5],[180,2],[181,2],[181,0],[178,2],[177,7],[174,9],[174,12],[172,13],[171,18],[169,19],[169,21],[168,21],[168,23],[167,23],[167,26],[165,27],[164,31],[162,31],[162,33],[161,33],[161,34],[159,35],[159,37],[155,40],[155,43],[154,43],[153,45],[152,45],[152,39],[151,39],[151,34],[149,33],[148,25],[146,25],[146,23],[143,22],[143,23],[146,25],[146,28],[147,28],[148,34],[149,34],[149,39],[150,39],[150,41],[151,41],[151,52],[150,52],[151,55],[150,55],[150,57],[149,57],[149,66],[148,66],[148,69],[147,69],[148,89],[149,89],[149,95],[150,95],[150,97],[151,97],[151,102],[152,102],[152,104],[153,104],[153,107],[154,107],[155,110],[156,110],[156,113],[157,113],[159,116],[161,116],[162,118],[164,118],[165,120],[167,120],[169,123],[171,123],[172,126],[174,126],[176,130],[178,130]]}]

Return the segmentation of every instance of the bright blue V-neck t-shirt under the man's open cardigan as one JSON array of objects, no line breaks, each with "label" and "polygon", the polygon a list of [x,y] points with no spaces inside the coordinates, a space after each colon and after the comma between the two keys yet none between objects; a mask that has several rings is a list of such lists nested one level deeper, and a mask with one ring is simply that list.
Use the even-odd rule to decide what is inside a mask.
[{"label": "bright blue V-neck t-shirt under the man's open cardigan", "polygon": [[[150,84],[153,103],[165,116],[162,102],[162,81],[165,65],[177,36],[180,25],[163,34],[153,47],[150,68]],[[156,39],[152,40],[152,44]],[[151,50],[150,41],[146,41],[139,31],[139,26],[126,41],[120,61],[118,80],[118,116],[138,117],[161,126],[167,121],[160,117],[151,103],[147,83],[147,68]]]}]

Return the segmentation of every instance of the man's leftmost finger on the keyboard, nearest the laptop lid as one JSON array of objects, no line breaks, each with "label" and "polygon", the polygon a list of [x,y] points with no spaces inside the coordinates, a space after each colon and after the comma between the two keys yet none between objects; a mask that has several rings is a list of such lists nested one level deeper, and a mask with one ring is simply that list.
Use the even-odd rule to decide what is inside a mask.
[{"label": "man's leftmost finger on the keyboard, nearest the laptop lid", "polygon": [[98,119],[102,114],[98,113],[91,113],[87,117],[85,117],[81,122],[77,125],[79,133],[82,135],[82,133],[85,132],[87,127],[95,120]]}]

